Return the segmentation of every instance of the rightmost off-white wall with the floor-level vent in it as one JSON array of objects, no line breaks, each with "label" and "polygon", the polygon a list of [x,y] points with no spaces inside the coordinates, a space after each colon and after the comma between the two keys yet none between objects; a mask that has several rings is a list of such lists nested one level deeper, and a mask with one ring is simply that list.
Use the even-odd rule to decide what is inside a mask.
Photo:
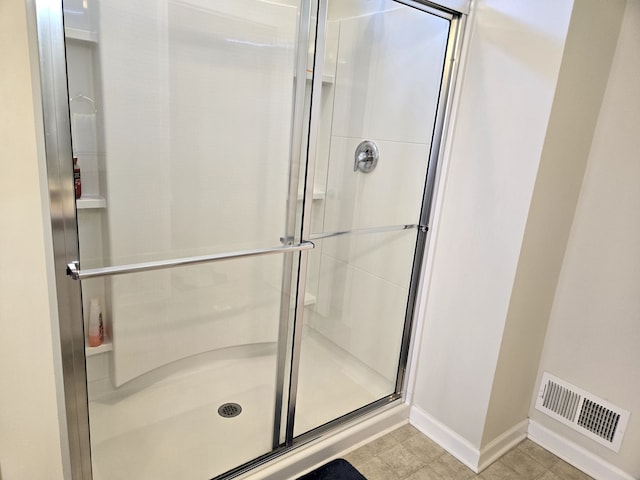
[{"label": "rightmost off-white wall with the floor-level vent in it", "polygon": [[619,454],[530,416],[640,477],[640,1],[629,0],[551,310],[548,371],[631,411]]}]

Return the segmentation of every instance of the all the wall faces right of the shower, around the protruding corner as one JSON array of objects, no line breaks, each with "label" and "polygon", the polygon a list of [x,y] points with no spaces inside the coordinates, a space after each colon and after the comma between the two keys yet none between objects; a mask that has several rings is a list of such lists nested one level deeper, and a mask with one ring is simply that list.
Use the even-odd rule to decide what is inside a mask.
[{"label": "all the wall faces right of the shower, around the protruding corner", "polygon": [[[482,468],[530,416],[597,478],[636,478],[640,8],[562,6],[476,4],[412,420]],[[543,371],[632,412],[620,454],[531,408]]]}]

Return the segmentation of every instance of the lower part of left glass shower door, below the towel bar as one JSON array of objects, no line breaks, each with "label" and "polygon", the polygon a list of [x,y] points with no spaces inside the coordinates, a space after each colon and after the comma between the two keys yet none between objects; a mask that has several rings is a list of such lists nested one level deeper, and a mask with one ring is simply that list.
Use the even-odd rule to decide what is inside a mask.
[{"label": "lower part of left glass shower door, below the towel bar", "polygon": [[271,451],[282,279],[271,255],[83,281],[119,299],[87,349],[95,479],[211,478]]}]

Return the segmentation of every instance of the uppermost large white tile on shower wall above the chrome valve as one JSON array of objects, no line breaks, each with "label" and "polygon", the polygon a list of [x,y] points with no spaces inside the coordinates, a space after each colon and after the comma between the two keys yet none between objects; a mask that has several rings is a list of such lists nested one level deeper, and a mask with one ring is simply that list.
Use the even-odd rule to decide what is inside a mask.
[{"label": "uppermost large white tile on shower wall above the chrome valve", "polygon": [[333,135],[429,143],[448,25],[404,6],[343,20]]}]

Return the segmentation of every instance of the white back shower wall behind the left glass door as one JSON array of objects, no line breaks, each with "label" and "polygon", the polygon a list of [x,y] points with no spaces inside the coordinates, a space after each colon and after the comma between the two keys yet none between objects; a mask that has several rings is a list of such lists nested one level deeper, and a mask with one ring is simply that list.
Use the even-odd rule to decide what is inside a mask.
[{"label": "white back shower wall behind the left glass door", "polygon": [[[101,4],[112,263],[279,244],[296,14],[245,0]],[[273,341],[281,266],[274,257],[114,278],[116,384],[186,355]]]}]

